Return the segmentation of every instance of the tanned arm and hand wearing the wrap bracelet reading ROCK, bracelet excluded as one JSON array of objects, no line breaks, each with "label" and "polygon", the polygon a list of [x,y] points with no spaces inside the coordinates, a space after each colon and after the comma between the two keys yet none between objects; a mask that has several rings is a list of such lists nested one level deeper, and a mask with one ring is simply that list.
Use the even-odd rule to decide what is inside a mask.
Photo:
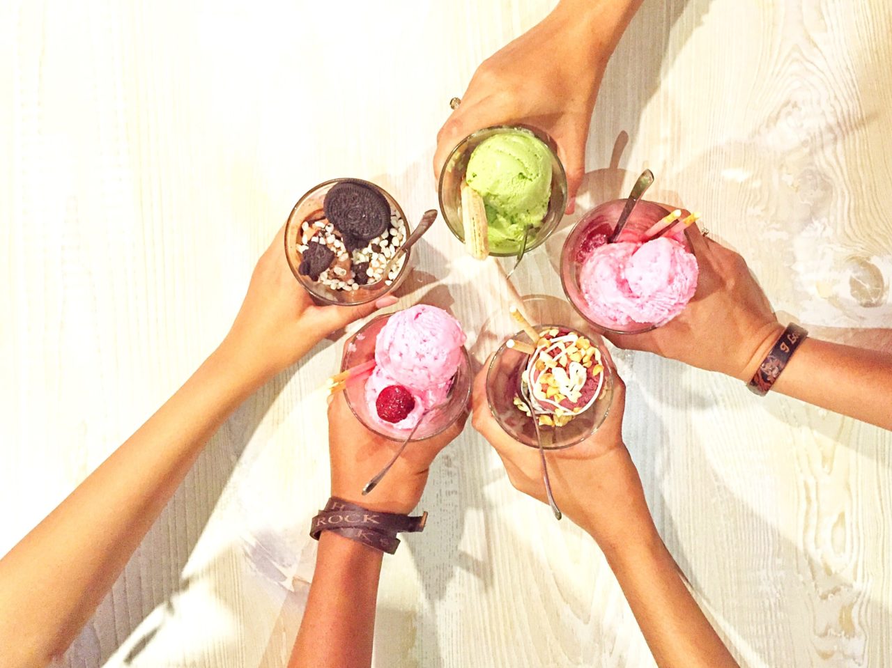
[{"label": "tanned arm and hand wearing the wrap bracelet reading ROCK, bracelet excluded", "polygon": [[[421,499],[434,458],[464,425],[465,416],[433,438],[409,443],[390,472],[364,497],[363,486],[400,444],[360,425],[343,392],[338,393],[328,408],[332,496],[368,510],[408,514]],[[319,535],[316,571],[289,668],[366,668],[371,664],[382,554],[334,532]]]}]

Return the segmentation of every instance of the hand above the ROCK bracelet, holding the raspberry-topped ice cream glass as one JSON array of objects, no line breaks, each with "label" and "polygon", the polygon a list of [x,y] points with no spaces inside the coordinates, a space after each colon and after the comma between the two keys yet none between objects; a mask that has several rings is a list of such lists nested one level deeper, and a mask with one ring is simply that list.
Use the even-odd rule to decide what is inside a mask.
[{"label": "hand above the ROCK bracelet, holding the raspberry-topped ice cream glass", "polygon": [[385,439],[359,423],[347,406],[343,392],[337,392],[328,405],[332,496],[369,510],[409,513],[425,491],[427,472],[434,458],[461,433],[466,420],[467,413],[444,432],[409,443],[384,479],[368,496],[363,496],[362,488],[391,460],[400,443]]}]

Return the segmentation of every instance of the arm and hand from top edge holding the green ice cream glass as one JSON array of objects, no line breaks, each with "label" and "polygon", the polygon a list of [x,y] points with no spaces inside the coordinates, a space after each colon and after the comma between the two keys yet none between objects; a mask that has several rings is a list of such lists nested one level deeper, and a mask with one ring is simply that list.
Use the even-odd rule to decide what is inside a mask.
[{"label": "arm and hand from top edge holding the green ice cream glass", "polygon": [[483,61],[437,135],[434,177],[440,177],[455,145],[475,130],[530,125],[558,144],[572,212],[601,78],[641,2],[561,0],[540,23]]}]

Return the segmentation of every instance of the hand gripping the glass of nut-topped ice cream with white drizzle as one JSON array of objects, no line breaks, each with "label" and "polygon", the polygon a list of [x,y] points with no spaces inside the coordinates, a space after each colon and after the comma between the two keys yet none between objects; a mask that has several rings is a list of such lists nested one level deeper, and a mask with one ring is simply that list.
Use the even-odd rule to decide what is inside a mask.
[{"label": "hand gripping the glass of nut-topped ice cream with white drizzle", "polygon": [[[490,442],[516,490],[547,503],[540,453],[501,428],[486,400],[486,370],[474,383],[472,425]],[[551,491],[561,512],[607,553],[651,535],[638,471],[623,443],[625,383],[614,375],[613,404],[598,431],[571,448],[546,451]]]}]

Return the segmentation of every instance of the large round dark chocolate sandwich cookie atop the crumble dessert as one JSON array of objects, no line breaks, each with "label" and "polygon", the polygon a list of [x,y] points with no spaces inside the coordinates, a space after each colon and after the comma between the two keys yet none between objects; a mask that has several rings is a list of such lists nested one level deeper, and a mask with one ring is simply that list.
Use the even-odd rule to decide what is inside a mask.
[{"label": "large round dark chocolate sandwich cookie atop the crumble dessert", "polygon": [[335,184],[322,205],[349,250],[383,235],[390,225],[390,204],[384,195],[358,181]]}]

